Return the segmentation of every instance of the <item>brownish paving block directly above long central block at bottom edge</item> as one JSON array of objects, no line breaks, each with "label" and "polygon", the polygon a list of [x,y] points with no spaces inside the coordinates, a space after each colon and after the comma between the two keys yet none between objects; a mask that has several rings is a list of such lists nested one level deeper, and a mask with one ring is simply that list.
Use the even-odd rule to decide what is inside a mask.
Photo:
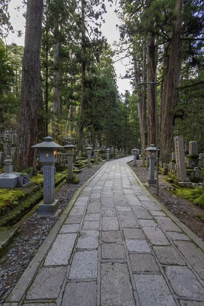
[{"label": "brownish paving block directly above long central block at bottom edge", "polygon": [[125,259],[124,245],[121,243],[103,243],[101,244],[102,259]]}]

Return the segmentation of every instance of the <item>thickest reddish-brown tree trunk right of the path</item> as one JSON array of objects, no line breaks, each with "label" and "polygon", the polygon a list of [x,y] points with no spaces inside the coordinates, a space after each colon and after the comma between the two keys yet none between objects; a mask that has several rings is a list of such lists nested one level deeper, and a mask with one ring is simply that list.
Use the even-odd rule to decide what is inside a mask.
[{"label": "thickest reddish-brown tree trunk right of the path", "polygon": [[[171,137],[172,137],[172,120],[173,109],[176,105],[176,84],[179,84],[178,71],[178,54],[181,35],[181,13],[183,9],[183,0],[176,0],[175,12],[177,20],[172,31],[171,49],[169,57],[169,66],[167,73],[166,87],[164,87],[164,101],[163,101],[163,116],[161,129],[161,152],[160,160],[162,162],[169,162],[171,159]],[[179,69],[180,70],[180,69]]]}]

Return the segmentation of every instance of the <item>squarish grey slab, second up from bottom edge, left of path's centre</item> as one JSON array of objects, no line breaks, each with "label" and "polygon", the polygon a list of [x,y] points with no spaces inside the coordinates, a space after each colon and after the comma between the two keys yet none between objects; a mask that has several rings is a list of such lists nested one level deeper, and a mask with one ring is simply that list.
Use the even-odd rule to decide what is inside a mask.
[{"label": "squarish grey slab, second up from bottom edge, left of path's centre", "polygon": [[97,266],[98,252],[96,250],[75,252],[68,278],[95,278],[97,277]]}]

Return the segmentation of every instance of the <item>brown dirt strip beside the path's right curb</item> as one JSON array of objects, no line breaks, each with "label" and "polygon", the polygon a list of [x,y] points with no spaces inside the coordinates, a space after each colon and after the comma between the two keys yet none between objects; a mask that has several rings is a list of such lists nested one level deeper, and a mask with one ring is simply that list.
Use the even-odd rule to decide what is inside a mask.
[{"label": "brown dirt strip beside the path's right curb", "polygon": [[182,221],[195,235],[204,241],[204,222],[197,215],[204,215],[204,209],[193,205],[187,199],[181,199],[172,195],[167,189],[171,184],[167,183],[165,175],[159,174],[159,196],[157,196],[157,188],[155,186],[146,186],[149,171],[145,167],[140,167],[142,160],[137,160],[138,167],[133,167],[133,162],[129,166],[139,177],[147,190],[154,195],[171,213]]}]

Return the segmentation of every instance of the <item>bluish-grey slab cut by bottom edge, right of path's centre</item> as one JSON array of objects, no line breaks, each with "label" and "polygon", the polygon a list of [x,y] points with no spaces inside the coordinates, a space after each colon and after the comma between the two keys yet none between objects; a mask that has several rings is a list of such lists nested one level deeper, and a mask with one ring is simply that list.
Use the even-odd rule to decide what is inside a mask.
[{"label": "bluish-grey slab cut by bottom edge, right of path's centre", "polygon": [[162,275],[135,274],[134,280],[141,306],[176,306]]}]

